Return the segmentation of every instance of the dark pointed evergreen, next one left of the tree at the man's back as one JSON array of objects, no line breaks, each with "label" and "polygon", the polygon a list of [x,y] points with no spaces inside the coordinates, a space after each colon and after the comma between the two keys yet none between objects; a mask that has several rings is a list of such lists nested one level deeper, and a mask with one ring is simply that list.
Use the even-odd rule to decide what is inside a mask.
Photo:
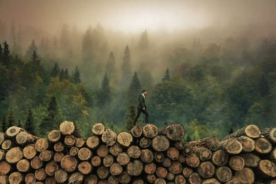
[{"label": "dark pointed evergreen, next one left of the tree at the man's back", "polygon": [[111,91],[109,85],[109,79],[107,74],[104,74],[103,81],[101,82],[101,89],[98,94],[98,105],[103,107],[110,103],[111,100]]}]

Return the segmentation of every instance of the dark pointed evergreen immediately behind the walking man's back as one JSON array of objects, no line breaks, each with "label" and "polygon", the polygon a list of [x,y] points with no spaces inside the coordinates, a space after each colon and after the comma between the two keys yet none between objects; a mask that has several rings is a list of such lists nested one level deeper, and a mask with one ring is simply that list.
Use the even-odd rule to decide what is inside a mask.
[{"label": "dark pointed evergreen immediately behind the walking man's back", "polygon": [[139,94],[139,92],[141,92],[141,85],[137,76],[137,72],[135,72],[128,89],[128,105],[137,103],[137,94]]}]

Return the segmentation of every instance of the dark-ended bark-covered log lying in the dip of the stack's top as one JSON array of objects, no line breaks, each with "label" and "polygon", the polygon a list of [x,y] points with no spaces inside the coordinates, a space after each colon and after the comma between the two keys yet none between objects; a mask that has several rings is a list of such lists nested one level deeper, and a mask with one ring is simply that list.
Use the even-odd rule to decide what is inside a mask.
[{"label": "dark-ended bark-covered log lying in the dip of the stack's top", "polygon": [[186,145],[206,147],[211,151],[216,151],[219,148],[219,141],[215,136],[206,137],[204,139],[199,139],[198,141],[190,141]]}]

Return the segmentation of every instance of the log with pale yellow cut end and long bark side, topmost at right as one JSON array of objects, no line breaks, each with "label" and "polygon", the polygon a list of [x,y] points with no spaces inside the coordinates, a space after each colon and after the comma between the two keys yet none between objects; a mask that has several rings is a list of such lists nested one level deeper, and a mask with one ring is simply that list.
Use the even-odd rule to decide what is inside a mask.
[{"label": "log with pale yellow cut end and long bark side, topmost at right", "polygon": [[224,140],[236,138],[239,136],[248,136],[250,138],[256,139],[260,135],[261,131],[259,130],[259,127],[257,127],[257,125],[246,125],[245,127],[242,127],[240,130],[237,130],[236,132],[226,136]]}]

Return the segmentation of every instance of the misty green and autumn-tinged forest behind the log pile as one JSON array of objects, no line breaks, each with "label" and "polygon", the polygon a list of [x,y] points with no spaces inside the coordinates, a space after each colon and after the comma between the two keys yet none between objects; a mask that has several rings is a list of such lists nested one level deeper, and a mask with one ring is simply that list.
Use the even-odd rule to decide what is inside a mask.
[{"label": "misty green and autumn-tinged forest behind the log pile", "polygon": [[[42,28],[22,22],[18,12],[5,16],[1,132],[18,125],[46,136],[65,120],[74,121],[83,137],[98,122],[128,130],[144,89],[150,123],[181,123],[185,139],[222,138],[248,123],[275,125],[276,39],[264,31],[264,17],[244,27],[132,32],[111,29],[97,17],[87,25],[62,19]],[[144,114],[137,123],[144,124]]]}]

